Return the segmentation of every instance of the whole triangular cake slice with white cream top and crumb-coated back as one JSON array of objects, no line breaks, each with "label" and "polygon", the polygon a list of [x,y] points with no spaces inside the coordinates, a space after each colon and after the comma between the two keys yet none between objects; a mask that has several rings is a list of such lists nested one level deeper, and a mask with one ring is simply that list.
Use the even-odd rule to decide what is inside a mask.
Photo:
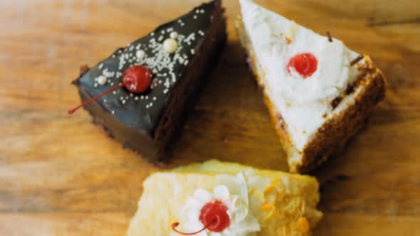
[{"label": "whole triangular cake slice with white cream top and crumb-coated back", "polygon": [[336,154],[384,98],[385,79],[367,55],[251,0],[237,29],[263,88],[290,171],[310,171]]}]

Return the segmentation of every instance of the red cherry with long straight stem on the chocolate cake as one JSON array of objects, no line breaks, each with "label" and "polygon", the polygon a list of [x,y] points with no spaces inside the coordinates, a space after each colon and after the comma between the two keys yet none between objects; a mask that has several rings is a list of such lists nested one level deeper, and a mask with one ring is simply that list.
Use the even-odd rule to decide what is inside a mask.
[{"label": "red cherry with long straight stem on the chocolate cake", "polygon": [[117,90],[121,87],[125,87],[128,91],[134,92],[134,93],[145,92],[147,88],[149,88],[149,85],[151,82],[152,82],[152,73],[150,73],[149,69],[145,68],[142,65],[133,65],[132,67],[125,70],[125,72],[122,74],[122,83],[120,85],[112,87],[110,88],[110,90],[107,90],[103,92],[102,94],[96,97],[93,97],[86,102],[83,102],[82,104],[78,105],[77,107],[73,109],[70,109],[68,111],[68,114],[73,114],[80,107],[83,107],[86,104],[89,104],[90,102],[93,102],[97,100],[98,98],[103,97],[104,95],[107,95],[108,93],[114,90]]}]

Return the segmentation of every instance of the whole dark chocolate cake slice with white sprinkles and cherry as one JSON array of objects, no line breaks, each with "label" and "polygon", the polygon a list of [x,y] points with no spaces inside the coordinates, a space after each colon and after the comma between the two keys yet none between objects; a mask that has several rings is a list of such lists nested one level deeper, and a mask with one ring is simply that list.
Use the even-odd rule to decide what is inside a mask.
[{"label": "whole dark chocolate cake slice with white sprinkles and cherry", "polygon": [[73,82],[84,102],[79,107],[124,147],[164,161],[167,144],[225,43],[221,0],[201,4],[93,68],[81,68]]}]

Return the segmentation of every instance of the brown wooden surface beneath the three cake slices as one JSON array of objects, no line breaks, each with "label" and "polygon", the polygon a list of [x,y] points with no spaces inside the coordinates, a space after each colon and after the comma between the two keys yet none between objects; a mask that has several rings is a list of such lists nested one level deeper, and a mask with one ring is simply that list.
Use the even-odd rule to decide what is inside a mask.
[{"label": "brown wooden surface beneath the three cake slices", "polygon": [[[0,2],[0,235],[123,235],[142,181],[158,168],[66,111],[70,81],[199,0]],[[325,218],[315,235],[420,235],[419,0],[259,1],[372,55],[387,98],[347,149],[313,173]],[[221,159],[285,170],[233,31],[191,111],[171,166]]]}]

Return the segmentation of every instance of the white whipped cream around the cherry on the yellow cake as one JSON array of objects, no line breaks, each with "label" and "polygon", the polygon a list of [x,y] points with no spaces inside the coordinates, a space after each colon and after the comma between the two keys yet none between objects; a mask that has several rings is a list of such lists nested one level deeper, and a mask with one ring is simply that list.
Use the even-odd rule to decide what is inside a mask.
[{"label": "white whipped cream around the cherry on the yellow cake", "polygon": [[194,196],[188,198],[182,208],[181,218],[185,219],[179,225],[184,232],[201,230],[204,225],[199,220],[201,208],[212,200],[220,200],[228,208],[230,225],[222,232],[204,230],[197,236],[252,236],[261,230],[258,220],[249,210],[248,186],[243,173],[237,176],[216,176],[223,185],[216,186],[213,192],[198,188]]}]

